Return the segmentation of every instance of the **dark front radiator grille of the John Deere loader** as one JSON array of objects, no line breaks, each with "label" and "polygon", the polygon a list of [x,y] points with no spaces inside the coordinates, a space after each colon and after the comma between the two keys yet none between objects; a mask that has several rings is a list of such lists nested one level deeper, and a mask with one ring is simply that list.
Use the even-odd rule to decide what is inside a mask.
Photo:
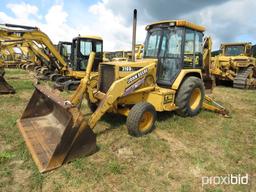
[{"label": "dark front radiator grille of the John Deere loader", "polygon": [[99,91],[107,93],[108,89],[115,81],[115,66],[101,64],[99,77]]}]

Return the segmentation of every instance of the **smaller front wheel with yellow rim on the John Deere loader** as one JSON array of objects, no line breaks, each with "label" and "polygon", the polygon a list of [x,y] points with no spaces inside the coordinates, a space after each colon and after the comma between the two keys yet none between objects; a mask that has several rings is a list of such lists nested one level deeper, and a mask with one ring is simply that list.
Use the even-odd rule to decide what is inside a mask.
[{"label": "smaller front wheel with yellow rim on the John Deere loader", "polygon": [[141,137],[152,132],[155,128],[156,110],[147,102],[135,104],[130,110],[126,125],[128,133],[135,137]]}]

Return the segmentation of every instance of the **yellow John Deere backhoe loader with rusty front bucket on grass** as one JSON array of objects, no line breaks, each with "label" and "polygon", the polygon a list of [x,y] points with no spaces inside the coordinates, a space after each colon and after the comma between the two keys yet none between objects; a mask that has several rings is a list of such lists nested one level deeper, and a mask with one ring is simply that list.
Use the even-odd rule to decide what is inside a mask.
[{"label": "yellow John Deere backhoe loader with rusty front bucket on grass", "polygon": [[[92,129],[106,112],[127,116],[128,132],[137,137],[153,131],[156,112],[175,111],[192,117],[206,108],[227,114],[205,96],[203,69],[210,57],[203,53],[204,27],[184,20],[150,24],[144,59],[135,61],[136,18],[135,10],[132,61],[100,63],[98,76],[91,78],[92,52],[86,75],[70,100],[35,86],[17,124],[40,172],[55,169],[81,153],[94,153]],[[83,98],[93,111],[88,119],[80,110]]]}]

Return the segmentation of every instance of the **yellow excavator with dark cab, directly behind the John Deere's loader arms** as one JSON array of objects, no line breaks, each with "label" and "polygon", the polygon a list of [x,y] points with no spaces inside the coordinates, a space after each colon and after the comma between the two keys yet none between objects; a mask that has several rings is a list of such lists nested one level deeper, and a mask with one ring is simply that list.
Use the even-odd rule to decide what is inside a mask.
[{"label": "yellow excavator with dark cab, directly behind the John Deere's loader arms", "polygon": [[[36,72],[43,76],[40,79],[50,79],[56,81],[56,88],[74,89],[78,86],[80,79],[85,75],[90,51],[96,52],[93,71],[96,72],[99,62],[103,58],[103,40],[97,36],[79,36],[73,39],[71,46],[70,62],[65,61],[65,57],[57,50],[49,37],[37,27],[2,24],[0,35],[9,38],[23,39],[38,45],[35,51],[41,52],[41,56],[47,60],[46,66],[35,67]],[[12,29],[21,28],[22,30]],[[64,46],[64,43],[62,43]],[[63,48],[62,46],[62,48]],[[70,49],[70,44],[65,44],[65,48]],[[35,47],[35,45],[34,45]],[[60,50],[61,51],[61,50]],[[69,50],[68,50],[69,51]],[[47,57],[50,59],[48,61]],[[69,56],[68,56],[69,57]]]}]

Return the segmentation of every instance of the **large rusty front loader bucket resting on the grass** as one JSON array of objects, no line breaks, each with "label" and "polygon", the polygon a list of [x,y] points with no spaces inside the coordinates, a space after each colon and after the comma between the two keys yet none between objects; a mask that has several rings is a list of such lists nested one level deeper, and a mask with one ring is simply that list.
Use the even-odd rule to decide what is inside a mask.
[{"label": "large rusty front loader bucket resting on the grass", "polygon": [[40,85],[35,87],[18,127],[40,172],[96,151],[96,136],[78,108]]}]

